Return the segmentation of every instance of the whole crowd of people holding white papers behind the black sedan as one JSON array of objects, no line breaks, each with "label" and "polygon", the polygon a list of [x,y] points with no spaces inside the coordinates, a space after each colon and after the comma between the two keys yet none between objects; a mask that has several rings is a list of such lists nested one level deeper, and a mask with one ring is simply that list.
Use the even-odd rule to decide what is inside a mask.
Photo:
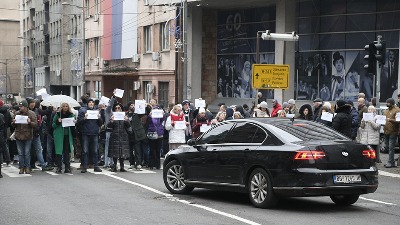
[{"label": "whole crowd of people holding white papers behind the black sedan", "polygon": [[[117,172],[118,161],[119,171],[126,172],[126,159],[129,169],[160,169],[160,157],[199,137],[204,127],[249,117],[290,117],[320,122],[377,150],[381,124],[376,121],[376,103],[374,99],[367,102],[363,93],[359,93],[357,103],[355,108],[351,101],[337,100],[332,105],[316,98],[313,105],[303,104],[298,108],[294,99],[282,104],[274,99],[269,108],[266,101],[259,99],[252,107],[220,103],[214,116],[207,106],[195,108],[188,100],[164,108],[151,99],[143,114],[135,112],[133,101],[124,106],[115,96],[108,103],[99,104],[98,100],[84,95],[81,107],[76,109],[68,103],[58,108],[44,107],[40,100],[31,98],[13,105],[4,105],[0,100],[0,164],[3,165],[3,159],[6,166],[18,164],[20,174],[30,174],[37,168],[36,162],[43,171],[56,168],[56,173],[62,173],[64,164],[64,173],[71,173],[70,162],[78,159],[81,173],[86,173],[88,168],[102,172],[100,167]],[[389,161],[385,167],[391,168],[396,166],[394,145],[399,133],[396,113],[400,109],[392,98],[386,100],[386,105],[384,137]],[[162,116],[156,116],[155,110],[162,110]],[[364,113],[372,113],[373,119],[364,120]],[[72,126],[64,125],[68,119],[73,121]],[[376,153],[380,162],[379,151]]]}]

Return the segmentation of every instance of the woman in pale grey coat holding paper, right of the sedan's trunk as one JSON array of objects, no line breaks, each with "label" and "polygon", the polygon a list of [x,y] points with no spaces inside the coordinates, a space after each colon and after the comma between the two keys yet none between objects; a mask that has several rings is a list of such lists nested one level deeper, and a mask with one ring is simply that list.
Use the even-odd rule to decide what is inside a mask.
[{"label": "woman in pale grey coat holding paper, right of the sedan's trunk", "polygon": [[381,125],[376,123],[376,109],[373,105],[368,107],[368,113],[372,113],[374,118],[372,120],[365,121],[361,119],[360,129],[358,129],[357,141],[361,144],[370,145],[376,152],[376,161],[380,162],[379,158],[379,135]]}]

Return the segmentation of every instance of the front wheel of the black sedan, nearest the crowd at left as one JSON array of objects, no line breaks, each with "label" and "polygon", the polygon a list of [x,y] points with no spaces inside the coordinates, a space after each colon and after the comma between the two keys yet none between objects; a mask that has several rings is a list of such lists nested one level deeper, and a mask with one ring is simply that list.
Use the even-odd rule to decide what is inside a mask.
[{"label": "front wheel of the black sedan, nearest the crowd at left", "polygon": [[185,171],[177,160],[167,164],[163,170],[163,178],[165,187],[173,194],[188,194],[194,189],[185,184]]}]

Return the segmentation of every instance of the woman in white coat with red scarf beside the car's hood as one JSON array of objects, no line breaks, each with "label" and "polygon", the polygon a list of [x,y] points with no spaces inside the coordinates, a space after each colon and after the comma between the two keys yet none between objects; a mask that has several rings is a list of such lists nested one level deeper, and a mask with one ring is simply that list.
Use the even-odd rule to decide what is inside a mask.
[{"label": "woman in white coat with red scarf beside the car's hood", "polygon": [[[180,105],[175,105],[167,121],[165,122],[165,129],[169,131],[169,150],[178,148],[180,145],[186,143],[185,131],[186,129],[175,129],[177,121],[185,121],[185,115],[182,112]],[[186,122],[189,125],[188,122]]]}]

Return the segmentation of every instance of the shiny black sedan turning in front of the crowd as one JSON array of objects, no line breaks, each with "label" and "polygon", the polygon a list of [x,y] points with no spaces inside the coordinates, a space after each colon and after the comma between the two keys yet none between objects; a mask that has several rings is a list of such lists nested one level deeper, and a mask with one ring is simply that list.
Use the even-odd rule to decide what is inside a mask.
[{"label": "shiny black sedan turning in front of the crowd", "polygon": [[320,123],[239,119],[170,151],[163,178],[173,194],[195,187],[241,191],[260,208],[299,196],[330,196],[346,206],[378,188],[375,160],[374,149]]}]

